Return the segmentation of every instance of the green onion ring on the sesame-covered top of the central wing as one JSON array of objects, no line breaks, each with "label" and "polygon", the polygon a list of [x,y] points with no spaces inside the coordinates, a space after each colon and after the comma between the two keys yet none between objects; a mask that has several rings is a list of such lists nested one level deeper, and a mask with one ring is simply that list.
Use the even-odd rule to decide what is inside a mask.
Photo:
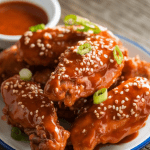
[{"label": "green onion ring on the sesame-covered top of the central wing", "polygon": [[92,48],[89,43],[84,43],[83,45],[80,45],[78,47],[77,54],[84,55],[84,54],[88,53],[89,51],[91,51],[91,49]]}]

